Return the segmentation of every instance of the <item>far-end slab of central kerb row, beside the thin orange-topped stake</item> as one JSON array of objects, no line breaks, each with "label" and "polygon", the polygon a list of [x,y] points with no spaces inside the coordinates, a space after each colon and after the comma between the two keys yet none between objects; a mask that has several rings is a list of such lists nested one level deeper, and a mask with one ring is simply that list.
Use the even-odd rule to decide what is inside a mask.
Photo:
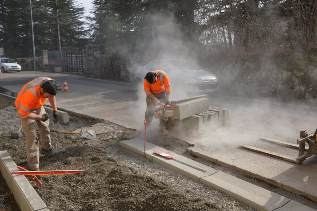
[{"label": "far-end slab of central kerb row, beside the thin orange-topped stake", "polygon": [[[126,141],[120,141],[120,145],[122,147],[128,148],[133,152],[136,152],[140,155],[144,155],[144,140],[139,138],[133,138]],[[150,142],[146,142],[146,148],[145,148],[145,154],[146,158],[152,161],[153,156],[156,156],[157,154],[154,153],[154,151],[161,151],[163,153],[170,152],[169,150],[166,150],[164,148],[158,147]]]}]

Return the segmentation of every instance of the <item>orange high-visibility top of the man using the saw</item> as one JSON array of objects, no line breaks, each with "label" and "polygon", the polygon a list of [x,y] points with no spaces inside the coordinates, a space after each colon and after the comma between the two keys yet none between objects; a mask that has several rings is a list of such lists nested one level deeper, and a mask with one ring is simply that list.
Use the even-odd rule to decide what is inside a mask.
[{"label": "orange high-visibility top of the man using the saw", "polygon": [[158,74],[158,80],[155,83],[149,83],[146,79],[144,79],[143,86],[144,86],[144,91],[146,95],[151,94],[151,92],[161,93],[164,90],[166,91],[167,94],[170,94],[171,85],[166,73],[162,70],[153,70],[151,72]]}]

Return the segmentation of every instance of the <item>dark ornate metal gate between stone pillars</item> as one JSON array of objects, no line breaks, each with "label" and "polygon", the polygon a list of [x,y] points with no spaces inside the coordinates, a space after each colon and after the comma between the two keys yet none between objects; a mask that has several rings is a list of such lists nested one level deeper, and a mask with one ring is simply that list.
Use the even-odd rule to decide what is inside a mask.
[{"label": "dark ornate metal gate between stone pillars", "polygon": [[67,72],[83,73],[86,70],[86,51],[80,50],[67,50]]}]

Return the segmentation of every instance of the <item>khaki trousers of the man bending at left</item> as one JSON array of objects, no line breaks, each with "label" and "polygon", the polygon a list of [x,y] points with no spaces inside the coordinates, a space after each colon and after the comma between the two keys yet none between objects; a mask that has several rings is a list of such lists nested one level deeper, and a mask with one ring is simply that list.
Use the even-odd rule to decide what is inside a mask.
[{"label": "khaki trousers of the man bending at left", "polygon": [[[31,113],[42,116],[46,112],[42,106],[39,109],[32,110]],[[35,122],[39,128],[42,148],[48,150],[52,147],[49,131],[49,120],[42,122],[29,118],[21,118],[22,128],[26,137],[26,157],[31,170],[39,168],[40,164],[39,140],[36,136]]]}]

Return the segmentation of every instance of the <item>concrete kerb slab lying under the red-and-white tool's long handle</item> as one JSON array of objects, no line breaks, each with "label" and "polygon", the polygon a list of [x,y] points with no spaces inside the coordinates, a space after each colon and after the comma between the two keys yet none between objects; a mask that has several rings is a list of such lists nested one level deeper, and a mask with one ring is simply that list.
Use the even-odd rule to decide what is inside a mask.
[{"label": "concrete kerb slab lying under the red-and-white tool's long handle", "polygon": [[199,168],[203,168],[205,170],[207,170],[206,172],[198,170],[196,168],[193,168],[191,166],[188,166],[186,164],[180,163],[178,161],[176,161],[174,158],[165,158],[164,156],[155,156],[153,157],[153,161],[159,163],[160,165],[169,168],[175,172],[178,172],[182,175],[185,175],[191,179],[194,179],[196,181],[199,181],[199,178],[201,177],[205,177],[205,176],[209,176],[212,174],[215,174],[216,172],[218,172],[218,170],[205,166],[204,164],[201,164],[199,162],[193,161],[189,158],[186,158],[184,156],[178,155],[174,152],[169,152],[169,155],[173,155],[176,157],[176,159],[182,161],[182,162],[186,162],[189,163],[191,165],[197,166]]}]

